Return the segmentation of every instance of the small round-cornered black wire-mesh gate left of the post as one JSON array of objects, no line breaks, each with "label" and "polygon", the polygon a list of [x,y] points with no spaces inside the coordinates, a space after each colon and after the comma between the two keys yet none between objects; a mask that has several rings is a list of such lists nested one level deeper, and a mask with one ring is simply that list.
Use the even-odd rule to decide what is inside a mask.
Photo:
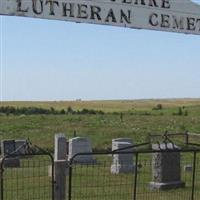
[{"label": "small round-cornered black wire-mesh gate left of the post", "polygon": [[5,156],[1,161],[1,200],[53,200],[53,170],[51,154],[38,147],[22,147]]}]

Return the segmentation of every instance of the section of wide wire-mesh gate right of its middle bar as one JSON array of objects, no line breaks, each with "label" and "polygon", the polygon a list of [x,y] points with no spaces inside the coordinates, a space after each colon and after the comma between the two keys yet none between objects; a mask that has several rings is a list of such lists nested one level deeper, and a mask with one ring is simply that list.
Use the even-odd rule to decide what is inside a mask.
[{"label": "section of wide wire-mesh gate right of its middle bar", "polygon": [[[199,200],[200,163],[196,151],[147,152],[137,155],[140,168],[137,170],[135,200]],[[177,155],[180,160],[176,160]],[[166,162],[162,161],[162,167],[159,161],[155,161],[155,157],[158,159],[159,156],[160,159],[166,159]],[[169,158],[174,161],[168,162]],[[164,182],[162,186],[160,182]]]}]

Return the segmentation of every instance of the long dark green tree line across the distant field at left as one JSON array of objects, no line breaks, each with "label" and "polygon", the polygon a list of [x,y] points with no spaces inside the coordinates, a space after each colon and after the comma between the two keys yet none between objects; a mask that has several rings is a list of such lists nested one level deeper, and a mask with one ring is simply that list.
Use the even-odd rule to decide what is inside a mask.
[{"label": "long dark green tree line across the distant field at left", "polygon": [[54,114],[54,115],[65,115],[65,114],[101,114],[103,115],[104,112],[101,110],[93,110],[93,109],[86,109],[83,108],[82,110],[73,110],[70,106],[65,110],[55,110],[53,107],[50,109],[47,108],[39,108],[39,107],[14,107],[14,106],[1,106],[0,113],[2,114],[13,114],[13,115],[37,115],[37,114]]}]

